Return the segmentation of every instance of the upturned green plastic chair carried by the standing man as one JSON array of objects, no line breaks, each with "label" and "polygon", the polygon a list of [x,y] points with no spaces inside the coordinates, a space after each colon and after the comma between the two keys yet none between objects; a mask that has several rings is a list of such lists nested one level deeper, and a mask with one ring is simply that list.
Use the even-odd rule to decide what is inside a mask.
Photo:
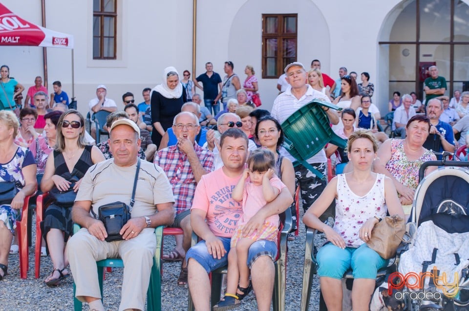
[{"label": "upturned green plastic chair carried by the standing man", "polygon": [[306,160],[320,152],[329,142],[341,148],[345,148],[347,142],[332,131],[322,106],[341,111],[341,108],[334,104],[315,99],[290,115],[282,123],[282,130],[286,138],[283,146],[297,159],[293,163],[294,166],[302,164],[319,178],[325,179],[325,176]]}]

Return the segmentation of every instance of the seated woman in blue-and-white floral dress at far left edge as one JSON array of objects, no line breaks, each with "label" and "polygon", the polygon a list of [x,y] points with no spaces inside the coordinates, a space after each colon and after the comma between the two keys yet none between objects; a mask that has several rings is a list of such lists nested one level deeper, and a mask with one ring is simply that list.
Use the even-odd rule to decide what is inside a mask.
[{"label": "seated woman in blue-and-white floral dress at far left edge", "polygon": [[21,218],[21,208],[26,196],[37,188],[36,162],[29,149],[16,145],[13,140],[18,134],[20,123],[12,111],[0,111],[0,183],[13,185],[11,198],[0,200],[0,280],[8,269],[8,256],[16,229]]}]

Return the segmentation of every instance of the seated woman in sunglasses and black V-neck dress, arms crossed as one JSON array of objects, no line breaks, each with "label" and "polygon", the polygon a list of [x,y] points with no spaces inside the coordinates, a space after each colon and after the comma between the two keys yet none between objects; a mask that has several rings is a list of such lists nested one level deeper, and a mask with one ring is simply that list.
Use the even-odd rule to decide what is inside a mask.
[{"label": "seated woman in sunglasses and black V-neck dress, arms crossed", "polygon": [[[52,156],[45,164],[41,190],[45,193],[57,188],[60,192],[73,189],[76,194],[88,168],[104,161],[96,146],[85,145],[85,119],[76,110],[63,113],[57,124],[57,138]],[[57,286],[69,276],[65,244],[72,235],[71,206],[52,203],[41,222],[43,238],[54,269],[44,280],[48,286]]]}]

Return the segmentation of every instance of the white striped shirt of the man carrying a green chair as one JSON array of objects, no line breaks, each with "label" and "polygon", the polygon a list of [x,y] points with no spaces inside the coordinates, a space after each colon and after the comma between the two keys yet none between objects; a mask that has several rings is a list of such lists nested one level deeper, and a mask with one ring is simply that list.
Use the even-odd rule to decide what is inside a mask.
[{"label": "white striped shirt of the man carrying a green chair", "polygon": [[[320,99],[328,103],[331,102],[329,97],[327,97],[322,92],[313,89],[310,85],[306,86],[306,93],[304,93],[304,95],[301,96],[300,99],[296,98],[295,95],[292,94],[292,87],[288,86],[285,92],[279,94],[274,100],[274,106],[272,107],[271,115],[276,118],[278,122],[280,122],[280,124],[283,123],[295,111],[308,104],[313,99]],[[289,158],[292,161],[295,161],[295,158],[291,156],[285,150],[285,148],[280,149],[280,154]],[[308,159],[308,163],[322,163],[326,161],[326,153],[323,149],[316,155],[313,155]]]}]

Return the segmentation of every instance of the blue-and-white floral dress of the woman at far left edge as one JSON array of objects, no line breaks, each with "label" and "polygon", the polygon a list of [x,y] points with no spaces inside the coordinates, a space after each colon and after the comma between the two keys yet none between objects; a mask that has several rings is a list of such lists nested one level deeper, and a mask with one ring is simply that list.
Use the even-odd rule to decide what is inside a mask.
[{"label": "blue-and-white floral dress of the woman at far left edge", "polygon": [[[27,148],[18,147],[15,156],[8,163],[0,163],[0,182],[16,181],[18,189],[25,185],[21,172],[23,167],[36,164],[34,157]],[[16,210],[10,205],[0,205],[0,221],[5,224],[12,234],[15,232],[16,221],[21,218],[21,210]]]}]

